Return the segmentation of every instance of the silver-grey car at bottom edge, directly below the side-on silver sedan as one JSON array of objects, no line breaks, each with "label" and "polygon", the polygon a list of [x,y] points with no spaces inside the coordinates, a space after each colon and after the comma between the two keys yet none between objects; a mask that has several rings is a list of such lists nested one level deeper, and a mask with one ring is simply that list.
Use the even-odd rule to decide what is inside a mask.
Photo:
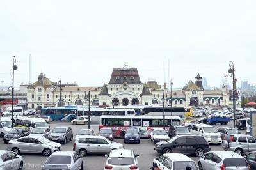
[{"label": "silver-grey car at bottom edge, directly below the side-on silver sedan", "polygon": [[44,163],[42,170],[49,169],[68,169],[68,170],[83,170],[84,163],[74,151],[58,151],[53,153]]}]

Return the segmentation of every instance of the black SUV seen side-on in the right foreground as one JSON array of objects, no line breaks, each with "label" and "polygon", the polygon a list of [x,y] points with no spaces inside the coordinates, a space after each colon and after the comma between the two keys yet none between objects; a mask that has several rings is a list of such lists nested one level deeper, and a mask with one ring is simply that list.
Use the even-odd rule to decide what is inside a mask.
[{"label": "black SUV seen side-on in the right foreground", "polygon": [[205,152],[211,151],[209,143],[200,135],[177,135],[169,141],[156,143],[154,149],[161,154],[195,154],[196,157],[202,157]]}]

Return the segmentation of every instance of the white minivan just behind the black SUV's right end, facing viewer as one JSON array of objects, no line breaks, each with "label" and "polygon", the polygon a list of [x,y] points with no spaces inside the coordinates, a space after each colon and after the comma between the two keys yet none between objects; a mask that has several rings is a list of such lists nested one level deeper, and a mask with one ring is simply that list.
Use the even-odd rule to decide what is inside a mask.
[{"label": "white minivan just behind the black SUV's right end, facing viewer", "polygon": [[205,124],[193,125],[190,132],[195,135],[204,136],[208,143],[216,143],[216,144],[222,143],[220,133],[218,132],[218,130],[216,130],[216,128],[210,125],[205,125]]}]

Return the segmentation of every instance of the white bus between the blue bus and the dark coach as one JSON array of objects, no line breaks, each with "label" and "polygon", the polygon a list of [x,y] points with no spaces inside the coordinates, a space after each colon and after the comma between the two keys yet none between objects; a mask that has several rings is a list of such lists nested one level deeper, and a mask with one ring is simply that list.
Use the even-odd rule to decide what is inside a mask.
[{"label": "white bus between the blue bus and the dark coach", "polygon": [[[79,116],[88,116],[89,109],[78,109],[77,117]],[[119,116],[127,116],[127,115],[135,115],[135,111],[133,109],[90,109],[90,123],[100,123],[100,116],[102,115],[119,115]]]}]

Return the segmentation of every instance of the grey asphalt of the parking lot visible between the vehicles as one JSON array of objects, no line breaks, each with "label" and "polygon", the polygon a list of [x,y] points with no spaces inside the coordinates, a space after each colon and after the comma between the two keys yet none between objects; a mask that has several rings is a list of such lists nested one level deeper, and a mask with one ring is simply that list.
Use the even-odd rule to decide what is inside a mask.
[{"label": "grey asphalt of the parking lot visible between the vehicles", "polygon": [[[88,128],[87,125],[72,125],[70,122],[52,122],[49,123],[51,129],[54,127],[58,127],[61,125],[70,125],[73,130],[74,138],[77,132],[81,128]],[[214,127],[232,127],[232,121],[228,123],[228,125],[215,125]],[[99,124],[92,124],[91,128],[95,130],[98,134],[99,132]],[[240,130],[241,133],[245,134],[244,130]],[[6,150],[6,144],[3,143],[3,139],[0,139],[0,150]],[[124,144],[124,139],[114,139],[115,142]],[[68,142],[67,144],[62,145],[63,151],[72,151],[73,142]],[[221,151],[223,150],[220,145],[211,144],[211,151]],[[140,169],[149,169],[152,166],[152,160],[156,157],[159,157],[159,153],[154,150],[154,144],[150,141],[150,139],[141,139],[140,144],[124,144],[124,148],[132,149],[140,158],[138,158]],[[24,159],[24,169],[42,169],[42,165],[44,164],[47,157],[42,155],[31,155],[31,154],[20,154]],[[195,160],[196,164],[198,164],[198,158],[189,155],[193,160]],[[106,158],[104,155],[87,155],[84,157],[84,169],[103,169],[106,162]]]}]

